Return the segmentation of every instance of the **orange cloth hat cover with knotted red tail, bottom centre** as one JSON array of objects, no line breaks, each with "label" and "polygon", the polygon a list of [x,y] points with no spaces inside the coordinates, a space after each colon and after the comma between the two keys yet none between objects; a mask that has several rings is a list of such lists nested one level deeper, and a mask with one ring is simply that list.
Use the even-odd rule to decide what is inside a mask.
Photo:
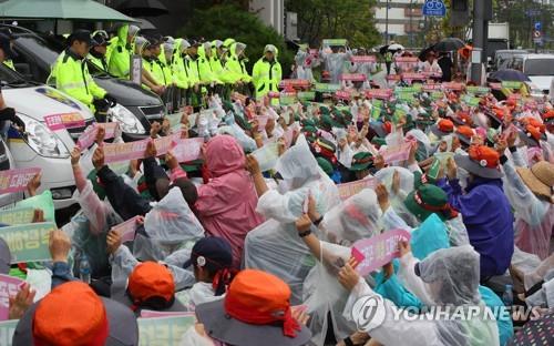
[{"label": "orange cloth hat cover with knotted red tail, bottom centre", "polygon": [[240,322],[266,325],[283,323],[283,334],[295,337],[300,325],[290,313],[290,287],[275,275],[244,269],[225,296],[225,312]]}]

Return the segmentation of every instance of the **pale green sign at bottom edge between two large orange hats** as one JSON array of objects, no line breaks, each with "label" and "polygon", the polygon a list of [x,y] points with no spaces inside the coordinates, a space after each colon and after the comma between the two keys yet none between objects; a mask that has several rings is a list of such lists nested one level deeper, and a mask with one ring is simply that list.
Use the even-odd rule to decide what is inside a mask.
[{"label": "pale green sign at bottom edge between two large orange hats", "polygon": [[194,327],[195,316],[137,318],[140,346],[178,345],[183,334]]}]

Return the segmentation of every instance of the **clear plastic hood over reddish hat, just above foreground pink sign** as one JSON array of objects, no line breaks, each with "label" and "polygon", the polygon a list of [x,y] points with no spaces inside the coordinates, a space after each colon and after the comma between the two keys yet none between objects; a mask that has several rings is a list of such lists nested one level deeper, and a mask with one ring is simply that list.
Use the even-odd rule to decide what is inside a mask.
[{"label": "clear plastic hood over reddish hat, just above foreground pink sign", "polygon": [[381,214],[375,191],[366,189],[327,212],[320,230],[329,242],[351,246],[380,233]]}]

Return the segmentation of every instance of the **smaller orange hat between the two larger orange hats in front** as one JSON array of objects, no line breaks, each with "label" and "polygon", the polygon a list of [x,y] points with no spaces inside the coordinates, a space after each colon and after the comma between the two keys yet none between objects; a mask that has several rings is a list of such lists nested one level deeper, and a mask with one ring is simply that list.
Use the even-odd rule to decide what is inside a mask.
[{"label": "smaller orange hat between the two larger orange hats in front", "polygon": [[171,302],[175,294],[175,282],[173,274],[165,265],[143,262],[135,266],[129,276],[127,291],[136,306],[153,297],[162,297],[165,302]]}]

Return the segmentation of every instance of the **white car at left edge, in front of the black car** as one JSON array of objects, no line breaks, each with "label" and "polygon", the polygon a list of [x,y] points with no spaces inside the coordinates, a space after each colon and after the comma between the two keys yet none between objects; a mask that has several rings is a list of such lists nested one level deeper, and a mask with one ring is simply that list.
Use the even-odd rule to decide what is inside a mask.
[{"label": "white car at left edge, in front of the black car", "polygon": [[[8,132],[8,147],[16,167],[42,169],[39,192],[50,190],[57,210],[78,203],[70,152],[84,129],[94,122],[92,112],[53,88],[24,81],[6,67],[0,67],[0,80],[6,104],[16,109],[16,114],[25,123],[25,135],[13,129]],[[84,126],[53,132],[44,124],[48,115],[75,112],[84,119]]]}]

